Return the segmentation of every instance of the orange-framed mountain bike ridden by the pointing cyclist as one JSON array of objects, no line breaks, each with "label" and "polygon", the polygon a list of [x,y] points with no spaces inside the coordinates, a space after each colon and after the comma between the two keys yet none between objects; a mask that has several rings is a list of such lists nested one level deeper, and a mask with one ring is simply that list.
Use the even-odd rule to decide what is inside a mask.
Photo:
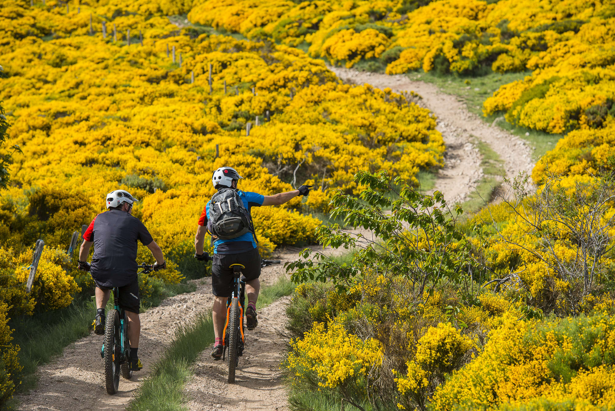
[{"label": "orange-framed mountain bike ridden by the pointing cyclist", "polygon": [[[213,260],[213,257],[210,257]],[[279,264],[280,260],[261,260],[261,268]],[[244,265],[231,264],[233,271],[233,287],[231,297],[226,300],[226,324],[222,334],[222,360],[228,361],[229,383],[235,382],[235,369],[239,365],[239,357],[243,356],[245,348],[244,336],[244,306],[245,306],[245,281],[242,280]]]}]

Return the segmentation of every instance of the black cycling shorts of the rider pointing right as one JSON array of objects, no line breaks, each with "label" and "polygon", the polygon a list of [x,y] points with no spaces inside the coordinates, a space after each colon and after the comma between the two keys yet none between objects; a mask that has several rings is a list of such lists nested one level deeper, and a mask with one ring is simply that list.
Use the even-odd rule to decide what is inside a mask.
[{"label": "black cycling shorts of the rider pointing right", "polygon": [[261,276],[261,255],[258,249],[239,254],[214,254],[212,264],[212,292],[216,297],[231,297],[233,273],[231,264],[242,264],[241,278],[251,281]]}]

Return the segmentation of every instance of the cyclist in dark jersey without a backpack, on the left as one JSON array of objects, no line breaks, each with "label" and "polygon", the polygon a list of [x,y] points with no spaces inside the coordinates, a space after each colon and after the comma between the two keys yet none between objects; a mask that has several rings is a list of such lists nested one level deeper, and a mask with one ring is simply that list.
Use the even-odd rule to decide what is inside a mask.
[{"label": "cyclist in dark jersey without a backpack, on the left", "polygon": [[[164,269],[162,250],[149,234],[145,225],[133,217],[132,205],[137,199],[127,191],[115,190],[106,196],[107,211],[98,214],[83,234],[79,250],[79,269],[90,271],[96,288],[97,314],[94,332],[105,335],[105,306],[111,289],[119,287],[119,305],[128,317],[127,334],[130,341],[130,369],[143,367],[138,358],[140,298],[137,279],[137,241],[148,247],[156,258],[154,270]],[[94,245],[92,264],[87,263],[90,247]]]}]

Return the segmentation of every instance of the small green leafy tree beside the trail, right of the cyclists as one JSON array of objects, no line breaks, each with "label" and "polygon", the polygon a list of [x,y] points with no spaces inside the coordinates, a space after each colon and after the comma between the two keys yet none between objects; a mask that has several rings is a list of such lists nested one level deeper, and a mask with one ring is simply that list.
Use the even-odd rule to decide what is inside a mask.
[{"label": "small green leafy tree beside the trail, right of the cyclists", "polygon": [[342,218],[354,230],[337,224],[316,230],[323,247],[355,250],[352,265],[340,266],[322,252],[305,249],[301,256],[311,259],[285,265],[293,281],[332,281],[342,291],[369,268],[404,279],[404,289],[416,301],[449,283],[466,284],[472,291],[472,247],[456,228],[460,206],[452,212],[440,191],[423,196],[399,177],[394,186],[386,172],[360,171],[355,181],[365,187],[358,199],[338,191],[330,203],[331,217]]}]

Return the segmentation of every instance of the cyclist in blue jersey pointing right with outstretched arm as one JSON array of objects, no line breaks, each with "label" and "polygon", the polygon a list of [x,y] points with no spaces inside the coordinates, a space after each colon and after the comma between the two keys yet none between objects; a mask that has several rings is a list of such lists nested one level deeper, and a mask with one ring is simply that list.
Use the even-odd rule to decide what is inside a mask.
[{"label": "cyclist in blue jersey pointing right with outstretched arm", "polygon": [[[223,353],[222,333],[224,322],[226,321],[226,300],[231,295],[233,281],[233,272],[229,268],[231,264],[239,263],[245,266],[245,269],[242,269],[242,273],[244,274],[245,292],[248,297],[248,307],[245,313],[248,330],[253,330],[258,325],[258,319],[256,319],[256,300],[260,290],[258,277],[261,275],[261,257],[256,247],[256,238],[250,214],[252,207],[280,206],[296,196],[308,195],[311,188],[311,186],[303,185],[298,190],[274,194],[273,196],[263,196],[262,194],[239,190],[237,182],[240,178],[243,177],[232,167],[221,167],[213,172],[212,183],[214,188],[218,190],[218,193],[228,188],[236,190],[236,194],[241,199],[243,207],[247,210],[250,229],[240,236],[230,239],[221,239],[212,234],[216,232],[212,228],[212,213],[217,213],[217,209],[210,210],[212,204],[210,200],[205,204],[200,215],[199,225],[194,237],[194,257],[197,260],[207,260],[208,254],[203,252],[203,244],[205,234],[209,233],[212,235],[212,292],[215,296],[212,307],[213,331],[215,333],[215,343],[212,351],[213,359],[220,359]],[[234,196],[234,193],[231,193],[231,195]],[[228,202],[229,207],[231,207],[232,202],[230,200]],[[226,205],[226,202],[224,204]],[[216,204],[216,206],[220,207],[220,204]],[[220,211],[222,212],[223,209],[220,208]]]}]

